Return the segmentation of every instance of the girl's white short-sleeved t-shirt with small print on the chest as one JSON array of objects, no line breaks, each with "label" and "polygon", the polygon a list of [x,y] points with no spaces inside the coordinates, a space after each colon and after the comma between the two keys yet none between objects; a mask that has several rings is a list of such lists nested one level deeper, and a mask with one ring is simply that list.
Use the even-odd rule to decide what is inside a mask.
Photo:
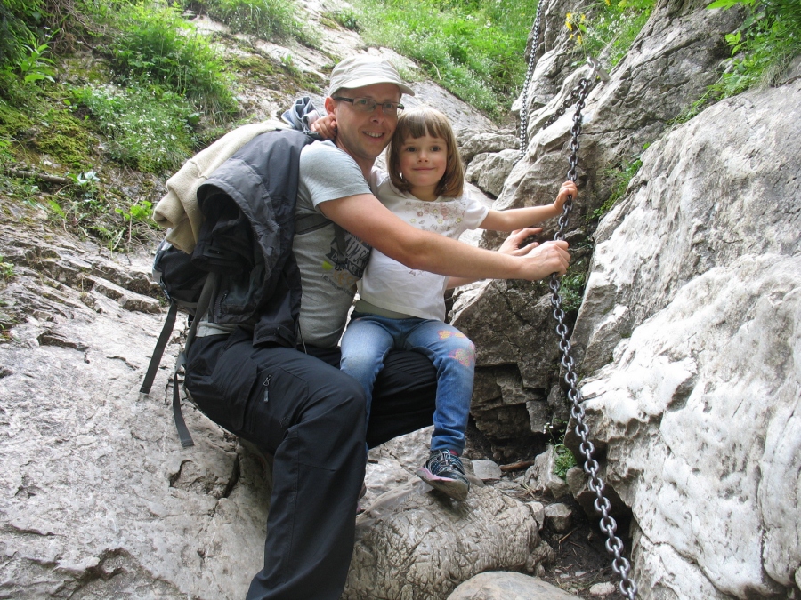
[{"label": "girl's white short-sleeved t-shirt with small print on the chest", "polygon": [[[392,185],[384,172],[373,170],[371,181],[378,199],[409,225],[458,239],[467,229],[481,226],[490,212],[478,198],[465,193],[457,198],[440,196],[434,202],[419,200]],[[359,295],[376,307],[404,315],[445,320],[448,277],[405,267],[375,248],[359,285]]]}]

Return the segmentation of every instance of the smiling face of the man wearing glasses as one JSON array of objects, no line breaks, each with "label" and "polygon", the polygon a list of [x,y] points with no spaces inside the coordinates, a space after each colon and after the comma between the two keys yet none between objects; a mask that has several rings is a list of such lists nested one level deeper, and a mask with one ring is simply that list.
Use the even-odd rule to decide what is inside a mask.
[{"label": "smiling face of the man wearing glasses", "polygon": [[[401,90],[395,84],[373,84],[357,88],[342,88],[337,98],[369,98],[378,106],[372,112],[360,112],[351,102],[326,99],[328,112],[336,116],[336,145],[356,159],[357,163],[372,165],[392,140],[398,116],[385,115],[382,102],[400,102]],[[329,108],[329,104],[331,108]]]}]

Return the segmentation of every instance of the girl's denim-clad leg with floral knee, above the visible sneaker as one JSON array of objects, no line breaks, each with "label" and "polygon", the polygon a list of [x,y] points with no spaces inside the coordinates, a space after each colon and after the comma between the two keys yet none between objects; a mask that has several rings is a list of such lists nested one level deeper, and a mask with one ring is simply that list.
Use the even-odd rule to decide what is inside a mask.
[{"label": "girl's denim-clad leg with floral knee, above the visible sneaker", "polygon": [[465,429],[473,398],[475,346],[464,333],[440,321],[423,320],[406,337],[404,348],[425,356],[437,370],[432,452],[465,450]]}]

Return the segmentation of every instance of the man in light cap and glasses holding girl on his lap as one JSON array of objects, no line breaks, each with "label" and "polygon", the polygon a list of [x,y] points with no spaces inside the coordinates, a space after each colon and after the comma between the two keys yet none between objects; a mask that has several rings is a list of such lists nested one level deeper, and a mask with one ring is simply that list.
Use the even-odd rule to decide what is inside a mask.
[{"label": "man in light cap and glasses holding girl on his lap", "polygon": [[[314,142],[300,156],[297,219],[322,213],[333,223],[294,238],[303,284],[298,348],[254,346],[241,327],[206,328],[190,348],[186,383],[201,410],[274,457],[264,568],[249,600],[337,600],[344,588],[366,405],[360,384],[338,369],[336,344],[370,246],[409,268],[473,279],[540,279],[564,273],[570,260],[563,242],[525,256],[490,252],[412,228],[384,208],[368,180],[392,138],[402,93],[414,94],[376,57],[343,60],[331,73],[325,106],[336,116],[336,143]],[[425,356],[388,357],[368,444],[430,425],[434,381]]]}]

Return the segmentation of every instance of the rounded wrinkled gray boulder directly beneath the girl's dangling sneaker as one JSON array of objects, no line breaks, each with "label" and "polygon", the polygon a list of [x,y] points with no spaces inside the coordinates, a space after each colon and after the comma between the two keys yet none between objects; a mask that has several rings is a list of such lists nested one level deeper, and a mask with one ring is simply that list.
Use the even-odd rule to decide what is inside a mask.
[{"label": "rounded wrinkled gray boulder directly beneath the girl's dangling sneaker", "polygon": [[444,599],[477,573],[527,566],[540,539],[526,505],[491,487],[465,502],[427,487],[396,488],[359,516],[344,599]]}]

